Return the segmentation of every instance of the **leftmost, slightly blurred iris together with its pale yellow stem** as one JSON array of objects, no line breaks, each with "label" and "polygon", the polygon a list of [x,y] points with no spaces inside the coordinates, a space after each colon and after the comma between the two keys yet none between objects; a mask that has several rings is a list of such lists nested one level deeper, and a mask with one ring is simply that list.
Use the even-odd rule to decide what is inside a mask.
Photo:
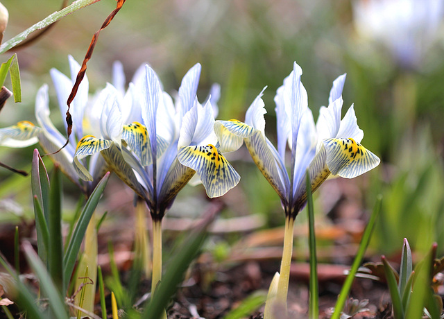
[{"label": "leftmost, slightly blurred iris together with its pale yellow stem", "polygon": [[[69,67],[71,69],[70,77],[65,76],[65,74],[62,74],[57,69],[51,69],[50,71],[53,85],[56,88],[56,96],[62,119],[65,117],[67,110],[66,101],[76,81],[80,64],[69,56]],[[114,62],[113,83],[118,87],[118,89],[114,89],[114,91],[117,92],[117,96],[119,96],[122,103],[129,103],[130,100],[128,101],[128,98],[130,98],[130,94],[128,94],[128,92],[130,92],[131,87],[128,89],[128,92],[124,92],[122,84],[124,82],[125,78],[121,64]],[[65,148],[62,148],[62,150],[56,154],[50,155],[51,160],[56,162],[62,172],[65,173],[72,182],[78,185],[86,197],[89,197],[92,193],[97,182],[101,180],[107,171],[107,167],[105,166],[103,158],[97,154],[89,160],[88,165],[86,162],[83,163],[83,165],[88,167],[87,174],[91,176],[91,178],[87,182],[80,180],[76,173],[76,166],[73,165],[76,144],[78,139],[83,137],[83,134],[94,134],[94,132],[97,132],[97,128],[99,128],[97,123],[99,122],[101,110],[105,102],[103,96],[108,95],[108,92],[112,90],[112,85],[108,85],[107,88],[97,94],[94,102],[92,98],[89,98],[88,90],[89,83],[85,76],[78,88],[76,98],[74,98],[74,101],[71,103],[74,134],[69,138],[69,143]],[[58,131],[50,119],[48,85],[43,85],[37,92],[35,98],[35,118],[37,119],[38,126],[35,126],[29,121],[20,121],[15,126],[0,129],[0,145],[25,147],[35,144],[38,141],[45,153],[53,153],[59,150],[65,144],[66,138]],[[65,121],[63,121],[63,123],[65,123]],[[66,129],[67,125],[65,123],[65,130]],[[79,273],[85,273],[86,267],[89,266],[88,277],[93,279],[93,284],[85,287],[87,289],[87,296],[94,295],[96,291],[97,234],[94,218],[95,216],[92,216],[92,222],[89,223],[87,228],[85,234],[85,251],[78,266]],[[77,286],[82,282],[83,279],[81,282],[77,282]],[[85,298],[83,308],[93,311],[94,298]]]}]

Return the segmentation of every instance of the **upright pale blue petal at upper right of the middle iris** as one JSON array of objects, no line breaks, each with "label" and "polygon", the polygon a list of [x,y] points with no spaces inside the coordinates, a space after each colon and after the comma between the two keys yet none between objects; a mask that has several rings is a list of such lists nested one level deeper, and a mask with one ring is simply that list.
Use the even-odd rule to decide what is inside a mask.
[{"label": "upright pale blue petal at upper right of the middle iris", "polygon": [[195,64],[182,78],[182,83],[179,87],[180,121],[182,121],[182,117],[191,110],[191,107],[194,106],[201,68],[199,63]]}]

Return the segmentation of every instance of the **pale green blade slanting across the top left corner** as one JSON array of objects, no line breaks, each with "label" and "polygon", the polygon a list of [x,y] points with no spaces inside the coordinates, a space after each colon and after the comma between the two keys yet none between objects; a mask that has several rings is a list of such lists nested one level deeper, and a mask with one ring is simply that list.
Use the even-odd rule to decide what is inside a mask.
[{"label": "pale green blade slanting across the top left corner", "polygon": [[90,4],[95,3],[97,1],[100,0],[78,0],[74,1],[73,3],[71,3],[70,6],[63,8],[60,11],[53,12],[51,15],[49,15],[42,21],[38,21],[36,24],[31,26],[30,28],[27,28],[19,35],[16,35],[12,39],[3,42],[3,44],[1,44],[0,46],[0,54],[5,53],[9,49],[12,49],[14,46],[21,43],[23,40],[26,39],[26,37],[28,37],[28,35],[30,35],[34,31],[44,28],[45,26],[49,26],[50,24],[56,22],[58,19],[61,19],[62,17],[65,17],[73,12],[76,12],[77,10],[85,8],[86,6],[89,6]]}]

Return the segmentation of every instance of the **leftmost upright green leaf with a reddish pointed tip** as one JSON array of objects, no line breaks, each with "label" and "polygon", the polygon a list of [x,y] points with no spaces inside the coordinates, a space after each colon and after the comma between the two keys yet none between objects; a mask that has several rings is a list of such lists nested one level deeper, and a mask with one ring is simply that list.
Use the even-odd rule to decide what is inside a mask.
[{"label": "leftmost upright green leaf with a reddish pointed tip", "polygon": [[[40,212],[37,212],[37,205],[34,205],[35,214],[35,230],[37,232],[37,251],[40,259],[46,263],[48,255],[48,243],[49,241],[44,239],[44,232],[48,233],[48,214],[49,214],[49,178],[46,173],[46,168],[43,164],[42,157],[40,157],[37,148],[34,150],[33,164],[31,169],[31,188],[33,190],[33,196],[40,206],[40,212],[43,218],[40,218]],[[46,245],[45,245],[46,243]]]}]

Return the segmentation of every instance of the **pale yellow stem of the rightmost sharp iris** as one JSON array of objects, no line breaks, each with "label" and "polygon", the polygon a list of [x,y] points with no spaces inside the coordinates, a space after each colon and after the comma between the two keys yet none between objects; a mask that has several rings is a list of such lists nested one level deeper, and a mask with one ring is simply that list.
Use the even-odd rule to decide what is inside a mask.
[{"label": "pale yellow stem of the rightmost sharp iris", "polygon": [[282,252],[278,293],[276,295],[276,302],[284,305],[285,310],[287,310],[287,294],[289,291],[290,265],[291,265],[291,257],[293,256],[293,225],[294,225],[294,218],[291,217],[285,218],[284,250]]}]

